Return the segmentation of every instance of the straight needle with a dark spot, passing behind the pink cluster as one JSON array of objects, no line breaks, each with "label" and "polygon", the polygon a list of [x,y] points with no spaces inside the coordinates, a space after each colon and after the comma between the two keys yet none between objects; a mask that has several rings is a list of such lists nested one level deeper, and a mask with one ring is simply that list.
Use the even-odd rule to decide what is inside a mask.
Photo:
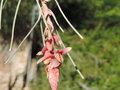
[{"label": "straight needle with a dark spot, passing behind the pink cluster", "polygon": [[[63,43],[63,41],[62,41],[62,39],[61,39],[61,37],[60,37],[60,35],[59,35],[59,33],[58,33],[57,30],[56,30],[56,32],[57,32],[58,37],[59,37],[60,40],[61,40],[62,46],[65,48],[65,45],[64,45],[64,43]],[[71,57],[71,55],[70,55],[69,53],[67,53],[67,55],[68,55],[69,59],[71,60],[73,66],[74,66],[75,69],[77,70],[78,74],[81,76],[82,79],[84,79],[84,76],[82,75],[82,73],[81,73],[80,70],[78,69],[78,67],[77,67],[77,65],[75,64],[75,62],[74,62],[73,58]]]}]

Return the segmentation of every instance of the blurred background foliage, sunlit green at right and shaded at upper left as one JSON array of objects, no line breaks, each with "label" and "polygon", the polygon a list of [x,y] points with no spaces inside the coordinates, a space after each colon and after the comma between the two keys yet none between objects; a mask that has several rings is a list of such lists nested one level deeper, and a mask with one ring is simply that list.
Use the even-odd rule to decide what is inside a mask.
[{"label": "blurred background foliage, sunlit green at right and shaded at upper left", "polygon": [[[11,35],[17,1],[8,0],[3,9],[3,30],[0,31],[2,36]],[[49,7],[54,11],[60,25],[66,28],[64,34],[60,33],[62,39],[66,46],[73,47],[71,55],[85,76],[85,80],[82,80],[65,56],[65,62],[60,69],[59,90],[84,90],[80,83],[93,90],[120,90],[120,0],[59,2],[68,19],[84,36],[80,40],[75,35],[52,0]],[[18,39],[24,37],[30,29],[30,13],[34,3],[35,0],[22,1],[15,29]],[[35,32],[36,36],[39,36],[38,32],[39,30]],[[50,90],[44,68],[43,64],[39,66],[38,75],[31,83],[32,90]]]}]

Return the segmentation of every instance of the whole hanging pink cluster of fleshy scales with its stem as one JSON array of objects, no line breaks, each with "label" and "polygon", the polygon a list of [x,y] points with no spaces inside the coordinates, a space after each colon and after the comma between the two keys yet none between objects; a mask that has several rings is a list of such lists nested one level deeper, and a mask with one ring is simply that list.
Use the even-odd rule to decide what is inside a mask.
[{"label": "whole hanging pink cluster of fleshy scales with its stem", "polygon": [[60,50],[54,48],[54,45],[61,46],[61,41],[54,33],[54,26],[50,16],[53,16],[56,24],[61,30],[62,28],[58,24],[53,12],[46,5],[46,3],[49,1],[50,0],[42,0],[42,12],[48,27],[45,27],[44,30],[45,46],[37,53],[37,55],[43,55],[43,57],[38,60],[37,64],[43,62],[46,65],[47,78],[50,86],[52,90],[57,90],[59,81],[59,67],[64,61],[62,55],[68,53],[71,50],[71,47]]}]

